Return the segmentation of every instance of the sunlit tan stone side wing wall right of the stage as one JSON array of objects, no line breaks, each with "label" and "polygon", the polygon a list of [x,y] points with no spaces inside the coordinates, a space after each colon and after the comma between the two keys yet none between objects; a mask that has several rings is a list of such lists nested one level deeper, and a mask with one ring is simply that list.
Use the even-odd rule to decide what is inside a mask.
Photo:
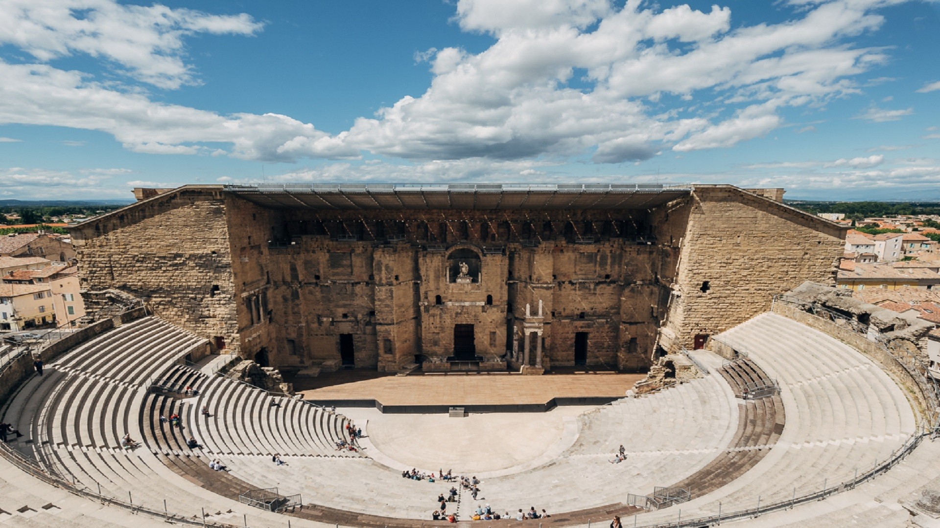
[{"label": "sunlit tan stone side wing wall right of the stage", "polygon": [[810,280],[835,284],[845,228],[727,185],[697,185],[660,346],[692,349]]}]

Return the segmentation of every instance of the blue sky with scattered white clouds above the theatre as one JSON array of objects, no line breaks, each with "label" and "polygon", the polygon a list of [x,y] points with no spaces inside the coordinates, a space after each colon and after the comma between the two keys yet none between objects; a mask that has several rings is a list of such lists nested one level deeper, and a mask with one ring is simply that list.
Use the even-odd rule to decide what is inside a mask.
[{"label": "blue sky with scattered white clouds above the theatre", "polygon": [[940,200],[940,2],[0,0],[0,198],[680,181]]}]

